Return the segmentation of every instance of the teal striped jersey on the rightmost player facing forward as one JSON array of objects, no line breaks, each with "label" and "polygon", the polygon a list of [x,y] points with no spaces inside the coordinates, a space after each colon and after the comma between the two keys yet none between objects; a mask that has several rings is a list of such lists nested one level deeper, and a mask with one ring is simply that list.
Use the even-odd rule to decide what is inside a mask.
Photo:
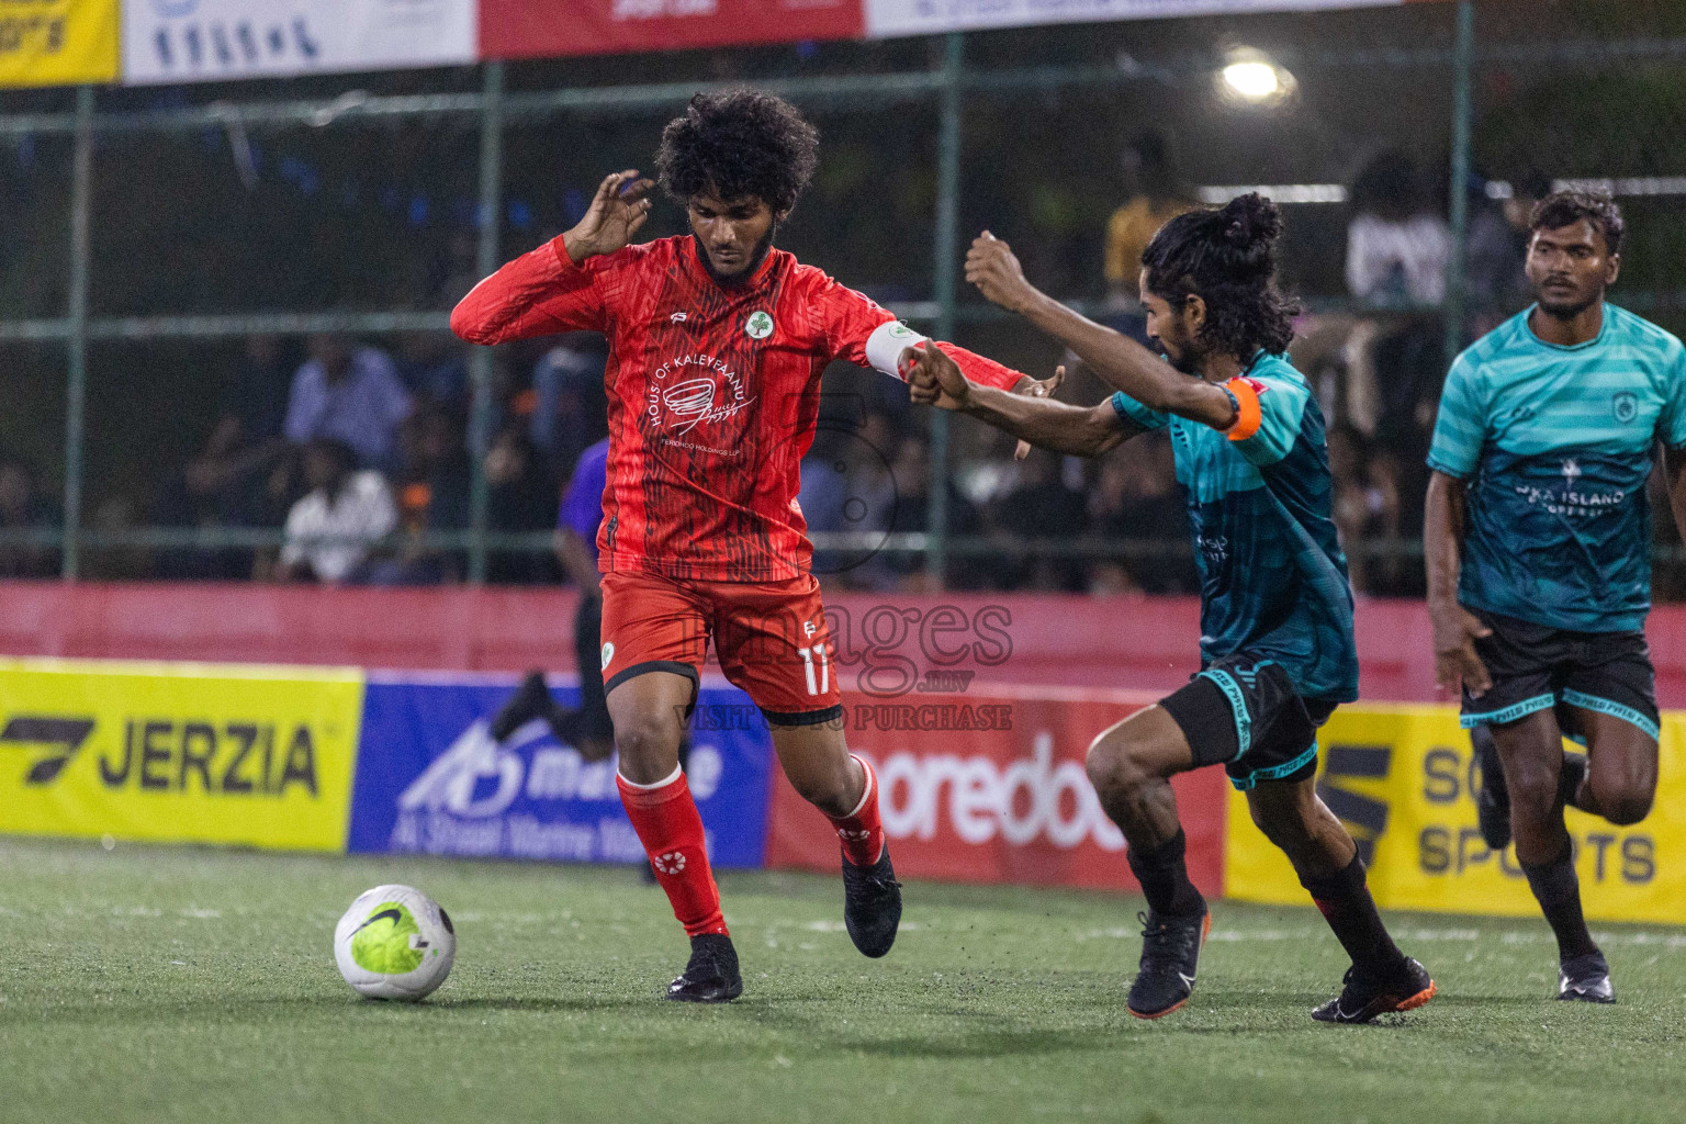
[{"label": "teal striped jersey on the rightmost player facing forward", "polygon": [[1598,337],[1556,347],[1522,312],[1458,356],[1428,467],[1465,480],[1458,600],[1573,632],[1632,632],[1651,610],[1657,440],[1686,445],[1686,349],[1603,307]]}]

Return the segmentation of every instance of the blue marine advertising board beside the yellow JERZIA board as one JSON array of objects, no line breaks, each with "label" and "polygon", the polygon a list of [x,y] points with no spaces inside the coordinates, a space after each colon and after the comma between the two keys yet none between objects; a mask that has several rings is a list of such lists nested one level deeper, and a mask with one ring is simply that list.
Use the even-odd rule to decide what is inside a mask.
[{"label": "blue marine advertising board beside the yellow JERZIA board", "polygon": [[[563,863],[642,863],[615,790],[615,762],[588,763],[533,721],[502,743],[487,723],[514,682],[371,674],[351,797],[349,849]],[[575,704],[578,688],[555,686]],[[703,688],[700,708],[744,713],[737,689]],[[732,725],[732,723],[722,723]],[[772,738],[691,736],[688,780],[715,866],[759,868],[767,846]]]}]

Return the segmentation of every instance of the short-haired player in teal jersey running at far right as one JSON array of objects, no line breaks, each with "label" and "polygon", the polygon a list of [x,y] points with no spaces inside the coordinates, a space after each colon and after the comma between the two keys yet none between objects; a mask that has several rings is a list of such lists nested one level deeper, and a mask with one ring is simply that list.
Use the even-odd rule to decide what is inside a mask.
[{"label": "short-haired player in teal jersey running at far right", "polygon": [[[1561,192],[1533,216],[1538,303],[1458,356],[1428,455],[1425,549],[1440,684],[1462,688],[1482,836],[1516,859],[1558,939],[1558,998],[1614,1003],[1581,917],[1565,804],[1634,824],[1657,787],[1646,647],[1664,450],[1686,526],[1686,347],[1605,303],[1622,212]],[[1563,735],[1588,755],[1563,752]]]}]

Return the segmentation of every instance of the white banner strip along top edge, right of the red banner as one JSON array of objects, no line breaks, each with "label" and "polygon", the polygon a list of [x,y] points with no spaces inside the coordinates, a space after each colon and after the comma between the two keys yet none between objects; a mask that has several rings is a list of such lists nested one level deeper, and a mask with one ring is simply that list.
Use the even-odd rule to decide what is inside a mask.
[{"label": "white banner strip along top edge, right of the red banner", "polygon": [[863,0],[867,34],[934,35],[1034,24],[1101,24],[1179,15],[1383,8],[1411,0]]}]

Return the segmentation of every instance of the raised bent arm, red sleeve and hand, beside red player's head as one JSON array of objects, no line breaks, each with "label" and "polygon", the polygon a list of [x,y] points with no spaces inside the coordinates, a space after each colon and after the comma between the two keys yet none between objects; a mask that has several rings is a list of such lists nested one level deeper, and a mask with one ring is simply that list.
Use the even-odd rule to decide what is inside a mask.
[{"label": "raised bent arm, red sleeve and hand, beside red player's head", "polygon": [[651,187],[634,169],[607,177],[572,231],[475,285],[452,310],[450,330],[487,345],[575,329],[602,330],[602,295],[580,266],[627,246],[649,219]]}]

